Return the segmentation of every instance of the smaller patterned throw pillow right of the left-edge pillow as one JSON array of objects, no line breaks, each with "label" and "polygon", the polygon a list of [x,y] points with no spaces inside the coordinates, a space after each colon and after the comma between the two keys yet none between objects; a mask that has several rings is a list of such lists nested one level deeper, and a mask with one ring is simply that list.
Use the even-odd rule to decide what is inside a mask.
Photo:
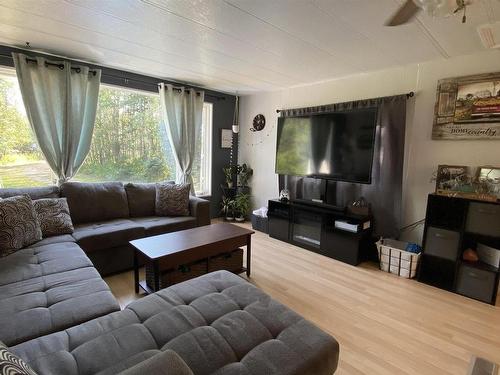
[{"label": "smaller patterned throw pillow right of the left-edge pillow", "polygon": [[33,201],[42,228],[42,236],[71,234],[74,231],[66,198],[47,198]]}]

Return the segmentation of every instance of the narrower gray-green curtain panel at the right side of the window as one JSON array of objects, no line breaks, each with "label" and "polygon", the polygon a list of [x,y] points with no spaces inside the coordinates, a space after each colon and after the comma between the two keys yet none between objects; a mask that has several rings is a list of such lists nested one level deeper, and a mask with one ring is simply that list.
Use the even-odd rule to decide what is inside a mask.
[{"label": "narrower gray-green curtain panel at the right side of the window", "polygon": [[179,168],[177,183],[191,184],[194,194],[193,168],[197,134],[201,132],[203,102],[205,93],[190,88],[173,87],[161,83],[160,110],[162,116],[161,134],[166,134]]}]

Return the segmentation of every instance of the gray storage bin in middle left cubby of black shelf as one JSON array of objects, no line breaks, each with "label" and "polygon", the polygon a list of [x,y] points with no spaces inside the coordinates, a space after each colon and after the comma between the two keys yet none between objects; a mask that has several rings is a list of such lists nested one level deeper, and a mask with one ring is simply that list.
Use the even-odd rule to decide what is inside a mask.
[{"label": "gray storage bin in middle left cubby of black shelf", "polygon": [[456,260],[460,233],[434,227],[427,228],[424,253],[440,258]]}]

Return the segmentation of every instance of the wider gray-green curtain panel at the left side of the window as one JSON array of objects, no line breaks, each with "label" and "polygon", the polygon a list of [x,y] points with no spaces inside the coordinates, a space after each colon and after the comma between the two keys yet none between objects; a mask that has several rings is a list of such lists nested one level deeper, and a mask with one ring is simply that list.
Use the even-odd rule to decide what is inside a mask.
[{"label": "wider gray-green curtain panel at the left side of the window", "polygon": [[24,54],[12,56],[29,122],[61,184],[76,174],[90,150],[101,71],[68,61],[29,57],[36,59],[31,62]]}]

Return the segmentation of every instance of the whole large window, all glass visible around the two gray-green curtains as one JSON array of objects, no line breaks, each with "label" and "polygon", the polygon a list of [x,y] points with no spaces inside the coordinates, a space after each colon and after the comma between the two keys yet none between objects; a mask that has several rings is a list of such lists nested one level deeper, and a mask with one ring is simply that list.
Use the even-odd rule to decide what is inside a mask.
[{"label": "whole large window, all glass visible around the two gray-green curtains", "polygon": [[[156,182],[175,179],[175,157],[169,142],[162,142],[159,124],[157,94],[101,84],[92,145],[74,180]],[[12,69],[0,72],[0,134],[0,187],[44,186],[55,182],[32,134]],[[196,145],[194,188],[197,195],[209,195],[210,103],[204,104]]]}]

